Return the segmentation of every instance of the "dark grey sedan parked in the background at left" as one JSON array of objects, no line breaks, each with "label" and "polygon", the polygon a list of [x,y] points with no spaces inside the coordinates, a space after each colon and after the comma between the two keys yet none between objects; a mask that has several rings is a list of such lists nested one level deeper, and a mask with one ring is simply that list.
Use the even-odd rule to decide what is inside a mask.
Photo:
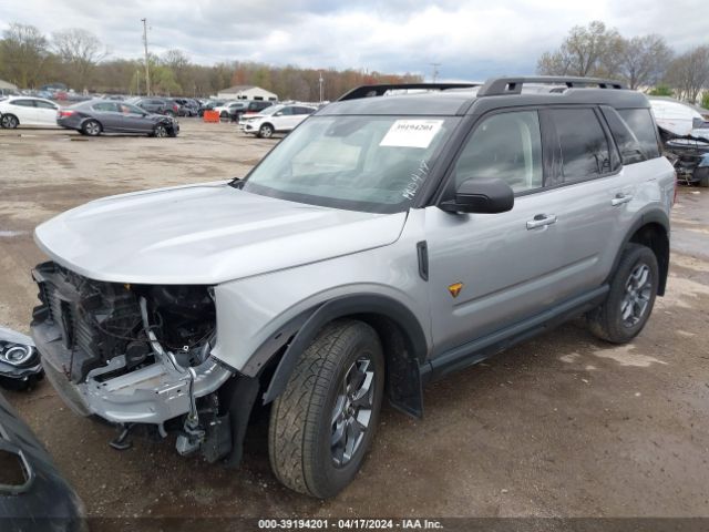
[{"label": "dark grey sedan parked in the background at left", "polygon": [[177,136],[179,124],[172,116],[147,111],[127,102],[92,100],[62,109],[56,115],[62,127],[89,136],[101,133],[143,133],[150,136]]}]

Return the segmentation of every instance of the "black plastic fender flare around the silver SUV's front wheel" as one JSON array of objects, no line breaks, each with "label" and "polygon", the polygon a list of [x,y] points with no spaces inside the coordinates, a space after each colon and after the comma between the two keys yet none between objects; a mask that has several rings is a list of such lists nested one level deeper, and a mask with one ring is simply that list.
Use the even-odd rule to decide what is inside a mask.
[{"label": "black plastic fender flare around the silver SUV's front wheel", "polygon": [[[401,328],[404,337],[404,348],[410,354],[408,366],[414,371],[411,376],[417,378],[417,382],[412,382],[413,390],[410,395],[412,398],[413,396],[419,396],[417,402],[420,402],[421,381],[419,367],[425,361],[428,355],[427,338],[421,324],[409,308],[391,297],[380,294],[356,294],[337,297],[323,303],[302,323],[276,367],[264,393],[264,403],[273,401],[284,392],[300,355],[308,348],[325,325],[337,318],[357,315],[381,316],[390,319]],[[394,406],[400,407],[407,413],[421,416],[421,408],[415,406],[409,408],[407,405],[397,405],[395,399]]]}]

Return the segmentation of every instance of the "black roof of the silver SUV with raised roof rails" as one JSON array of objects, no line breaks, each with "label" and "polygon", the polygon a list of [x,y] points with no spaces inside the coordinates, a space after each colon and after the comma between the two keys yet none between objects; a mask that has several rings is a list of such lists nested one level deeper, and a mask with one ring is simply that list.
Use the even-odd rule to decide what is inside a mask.
[{"label": "black roof of the silver SUV with raised roof rails", "polygon": [[[590,88],[594,86],[594,88]],[[392,91],[428,90],[395,93]],[[484,84],[364,85],[317,114],[464,115],[517,105],[602,104],[649,108],[645,96],[620,83],[588,78],[495,78]]]}]

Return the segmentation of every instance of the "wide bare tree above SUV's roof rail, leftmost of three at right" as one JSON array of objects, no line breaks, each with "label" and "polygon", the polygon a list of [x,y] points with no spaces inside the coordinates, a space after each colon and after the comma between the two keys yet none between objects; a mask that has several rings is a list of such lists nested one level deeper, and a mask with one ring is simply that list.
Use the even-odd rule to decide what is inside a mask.
[{"label": "wide bare tree above SUV's roof rail, leftmost of three at right", "polygon": [[621,37],[615,29],[595,20],[588,27],[575,25],[558,50],[546,52],[537,72],[548,75],[615,75],[615,58]]}]

